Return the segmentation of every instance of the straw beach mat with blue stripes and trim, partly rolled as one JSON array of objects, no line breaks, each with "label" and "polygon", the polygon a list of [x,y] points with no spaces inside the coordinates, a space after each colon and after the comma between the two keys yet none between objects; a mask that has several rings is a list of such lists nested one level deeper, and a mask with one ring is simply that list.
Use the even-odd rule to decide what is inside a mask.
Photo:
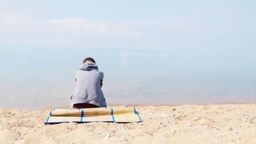
[{"label": "straw beach mat with blue stripes and trim, partly rolled", "polygon": [[99,107],[90,109],[53,109],[45,124],[58,123],[88,123],[88,122],[141,122],[135,107]]}]

